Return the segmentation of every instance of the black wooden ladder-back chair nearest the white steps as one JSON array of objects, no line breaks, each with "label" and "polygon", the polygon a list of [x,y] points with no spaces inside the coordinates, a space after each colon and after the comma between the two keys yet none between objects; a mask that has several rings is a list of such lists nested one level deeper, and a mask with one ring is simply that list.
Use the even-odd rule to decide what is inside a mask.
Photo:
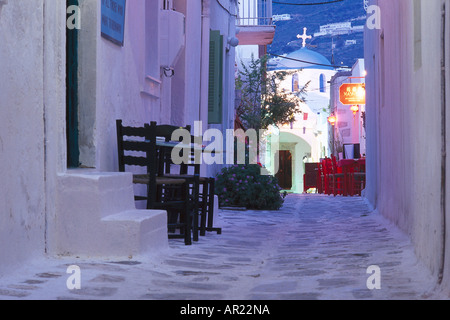
[{"label": "black wooden ladder-back chair nearest the white steps", "polygon": [[[119,171],[128,167],[140,167],[142,172],[133,174],[133,183],[145,185],[145,195],[136,195],[136,201],[146,201],[147,209],[168,212],[169,238],[182,238],[186,245],[192,244],[193,212],[189,184],[183,178],[158,175],[161,150],[156,146],[156,123],[144,127],[126,127],[122,120],[116,121]],[[176,219],[173,219],[173,216]],[[176,233],[179,230],[179,233]]]}]

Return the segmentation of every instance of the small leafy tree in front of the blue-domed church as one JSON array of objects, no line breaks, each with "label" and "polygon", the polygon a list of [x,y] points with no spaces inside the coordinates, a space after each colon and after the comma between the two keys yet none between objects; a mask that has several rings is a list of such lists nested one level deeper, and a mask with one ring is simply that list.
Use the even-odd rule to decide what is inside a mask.
[{"label": "small leafy tree in front of the blue-domed church", "polygon": [[269,72],[267,61],[267,55],[256,60],[252,56],[248,66],[242,64],[236,81],[236,88],[241,91],[236,114],[247,129],[284,125],[301,113],[300,103],[304,102],[303,94],[309,82],[297,92],[286,92],[280,85],[292,72]]}]

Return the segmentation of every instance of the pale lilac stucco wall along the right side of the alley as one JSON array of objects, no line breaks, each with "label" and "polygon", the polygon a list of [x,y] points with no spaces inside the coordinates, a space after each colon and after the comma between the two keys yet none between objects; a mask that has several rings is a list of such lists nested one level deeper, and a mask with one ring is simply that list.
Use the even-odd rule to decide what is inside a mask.
[{"label": "pale lilac stucco wall along the right side of the alley", "polygon": [[[418,256],[438,275],[444,256],[440,70],[443,2],[421,1],[421,12],[416,16],[414,3],[372,2],[380,7],[381,29],[365,31],[366,197],[411,236]],[[415,37],[420,16],[422,29]],[[419,64],[415,60],[417,38],[421,40],[416,47],[422,56]],[[448,104],[446,107],[448,110]]]}]

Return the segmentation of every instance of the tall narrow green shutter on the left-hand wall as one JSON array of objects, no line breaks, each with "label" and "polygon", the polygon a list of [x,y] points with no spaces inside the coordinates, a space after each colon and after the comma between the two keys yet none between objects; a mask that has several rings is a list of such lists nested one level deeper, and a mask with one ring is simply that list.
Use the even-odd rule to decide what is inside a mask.
[{"label": "tall narrow green shutter on the left-hand wall", "polygon": [[222,123],[223,36],[211,30],[209,48],[208,123]]}]

